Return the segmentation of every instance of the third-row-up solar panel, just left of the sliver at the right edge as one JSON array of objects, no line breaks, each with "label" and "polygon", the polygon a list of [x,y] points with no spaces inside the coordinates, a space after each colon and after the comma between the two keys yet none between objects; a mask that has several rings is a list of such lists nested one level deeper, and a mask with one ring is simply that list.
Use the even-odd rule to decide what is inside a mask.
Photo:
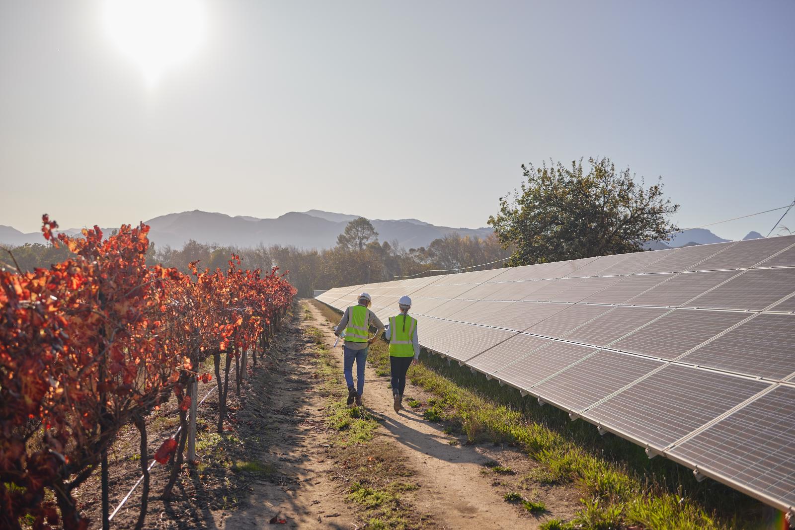
[{"label": "third-row-up solar panel, just left of the sliver at the right edge", "polygon": [[761,311],[795,292],[792,269],[753,269],[688,302],[693,308]]}]

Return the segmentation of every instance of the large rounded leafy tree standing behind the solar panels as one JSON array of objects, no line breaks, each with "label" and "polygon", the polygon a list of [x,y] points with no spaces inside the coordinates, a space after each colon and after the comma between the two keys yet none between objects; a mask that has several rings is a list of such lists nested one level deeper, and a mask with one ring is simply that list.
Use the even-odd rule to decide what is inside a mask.
[{"label": "large rounded leafy tree standing behind the solar panels", "polygon": [[582,159],[571,167],[522,164],[527,182],[501,197],[488,221],[502,246],[515,246],[509,265],[638,252],[678,230],[669,217],[679,205],[663,196],[662,177],[646,188],[629,168],[616,172],[609,158],[588,164],[588,173]]}]

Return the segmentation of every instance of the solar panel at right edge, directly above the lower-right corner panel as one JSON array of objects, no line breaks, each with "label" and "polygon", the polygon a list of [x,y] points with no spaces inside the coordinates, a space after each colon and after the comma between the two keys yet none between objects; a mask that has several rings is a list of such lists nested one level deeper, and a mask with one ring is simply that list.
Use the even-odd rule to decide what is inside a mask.
[{"label": "solar panel at right edge, directly above the lower-right corner panel", "polygon": [[783,379],[795,372],[795,315],[758,314],[680,361]]}]

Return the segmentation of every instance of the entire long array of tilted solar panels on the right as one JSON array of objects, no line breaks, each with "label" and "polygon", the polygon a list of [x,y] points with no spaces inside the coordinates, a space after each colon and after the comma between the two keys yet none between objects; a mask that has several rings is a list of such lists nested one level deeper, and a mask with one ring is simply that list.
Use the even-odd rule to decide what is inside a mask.
[{"label": "entire long array of tilted solar panels on the right", "polygon": [[795,511],[795,236],[352,285],[421,346]]}]

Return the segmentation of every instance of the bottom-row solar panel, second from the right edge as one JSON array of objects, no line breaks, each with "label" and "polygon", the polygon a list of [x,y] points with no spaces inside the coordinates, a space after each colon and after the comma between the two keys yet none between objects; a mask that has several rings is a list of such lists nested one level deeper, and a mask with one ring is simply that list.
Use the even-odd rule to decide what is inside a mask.
[{"label": "bottom-row solar panel, second from the right edge", "polygon": [[668,365],[589,408],[588,420],[661,450],[770,386]]}]

